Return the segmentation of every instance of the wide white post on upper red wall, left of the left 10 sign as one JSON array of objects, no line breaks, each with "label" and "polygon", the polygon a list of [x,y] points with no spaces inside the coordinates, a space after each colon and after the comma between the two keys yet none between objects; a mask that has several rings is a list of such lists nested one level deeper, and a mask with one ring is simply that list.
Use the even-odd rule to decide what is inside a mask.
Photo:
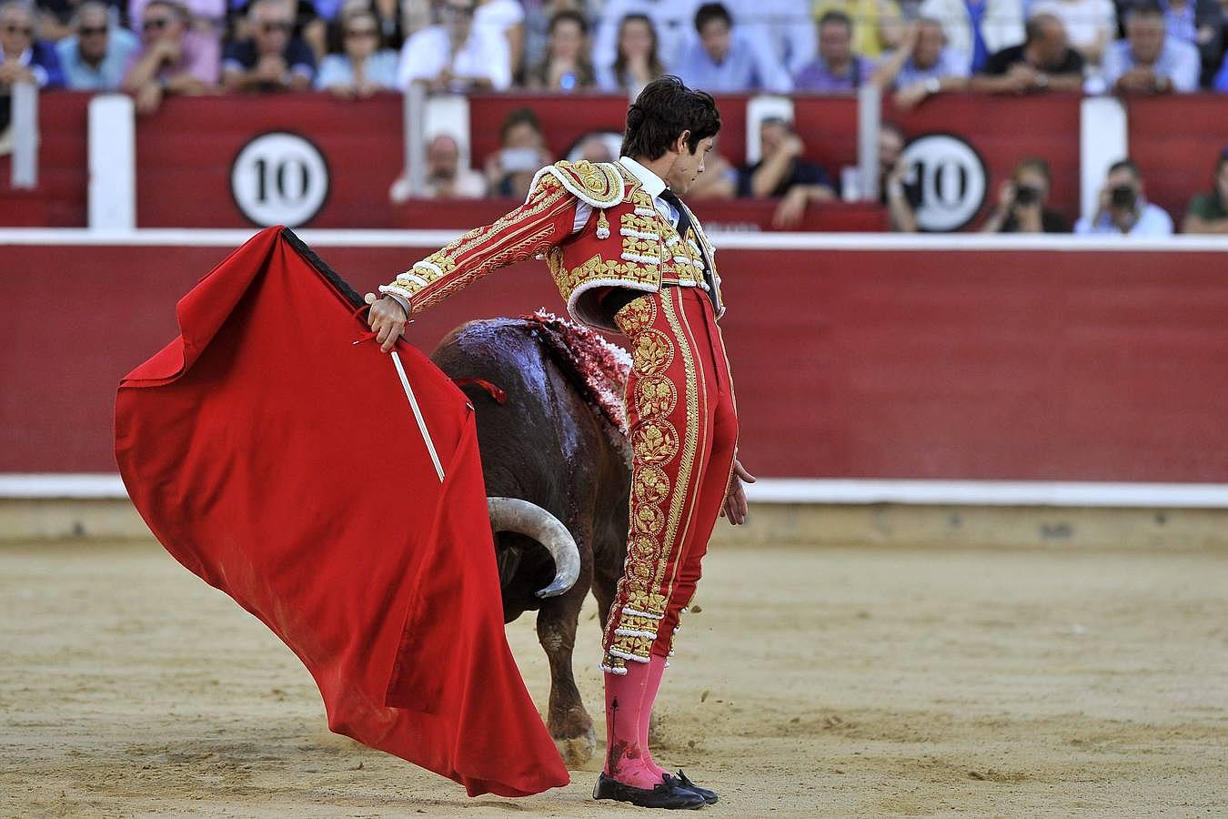
[{"label": "wide white post on upper red wall, left of the left 10 sign", "polygon": [[90,230],[136,228],[136,113],[123,93],[90,101]]}]

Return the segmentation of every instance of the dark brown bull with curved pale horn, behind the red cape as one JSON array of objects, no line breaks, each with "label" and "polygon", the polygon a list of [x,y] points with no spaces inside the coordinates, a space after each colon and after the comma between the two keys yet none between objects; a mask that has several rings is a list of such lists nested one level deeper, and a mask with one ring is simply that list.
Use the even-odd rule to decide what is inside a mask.
[{"label": "dark brown bull with curved pale horn, behind the red cape", "polygon": [[[628,363],[612,377],[614,350],[538,313],[470,322],[431,354],[474,406],[503,620],[538,611],[550,664],[546,728],[571,767],[597,744],[572,673],[580,609],[591,591],[604,631],[626,557],[631,456],[618,416]],[[594,386],[594,367],[604,383]]]}]

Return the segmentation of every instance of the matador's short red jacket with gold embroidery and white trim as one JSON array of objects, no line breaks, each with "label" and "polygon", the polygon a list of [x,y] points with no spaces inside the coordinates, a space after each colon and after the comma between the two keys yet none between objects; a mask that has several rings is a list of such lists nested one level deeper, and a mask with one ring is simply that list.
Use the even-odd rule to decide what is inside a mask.
[{"label": "matador's short red jacket with gold embroidery and white trim", "polygon": [[[593,215],[573,232],[578,203],[589,205]],[[379,291],[406,298],[418,313],[491,270],[538,255],[545,258],[572,318],[616,333],[600,305],[610,287],[656,292],[664,282],[707,289],[706,258],[720,317],[725,308],[713,248],[694,214],[691,225],[694,232],[680,237],[619,163],[556,162],[538,171],[523,205],[448,243]]]}]

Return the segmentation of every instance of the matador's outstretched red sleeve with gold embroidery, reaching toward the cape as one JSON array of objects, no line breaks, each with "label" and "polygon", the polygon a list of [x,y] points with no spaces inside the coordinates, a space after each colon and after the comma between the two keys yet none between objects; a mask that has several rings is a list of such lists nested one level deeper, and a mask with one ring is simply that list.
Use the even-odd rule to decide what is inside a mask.
[{"label": "matador's outstretched red sleeve with gold embroidery, reaching toward the cape", "polygon": [[491,270],[544,253],[571,236],[576,196],[553,173],[539,173],[523,205],[436,250],[379,292],[421,312]]}]

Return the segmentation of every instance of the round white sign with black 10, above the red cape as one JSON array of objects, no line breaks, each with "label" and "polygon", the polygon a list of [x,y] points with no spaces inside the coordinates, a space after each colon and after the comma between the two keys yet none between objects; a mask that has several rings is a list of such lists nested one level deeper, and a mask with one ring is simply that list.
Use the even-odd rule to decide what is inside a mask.
[{"label": "round white sign with black 10, above the red cape", "polygon": [[297,134],[260,134],[231,165],[231,194],[257,225],[297,227],[328,199],[328,163],[318,147]]}]

